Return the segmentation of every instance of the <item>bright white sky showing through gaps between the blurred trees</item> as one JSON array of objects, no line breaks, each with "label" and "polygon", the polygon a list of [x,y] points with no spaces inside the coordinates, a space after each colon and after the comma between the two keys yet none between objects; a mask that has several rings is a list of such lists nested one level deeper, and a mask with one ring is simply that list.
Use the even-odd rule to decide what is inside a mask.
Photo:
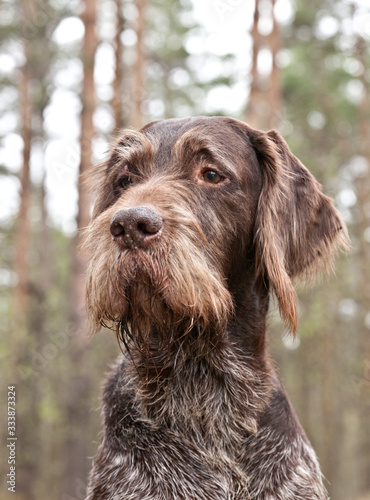
[{"label": "bright white sky showing through gaps between the blurred trees", "polygon": [[[207,111],[212,111],[223,103],[229,114],[240,110],[240,103],[246,100],[246,75],[250,64],[250,38],[248,32],[252,23],[253,0],[192,0],[194,16],[202,26],[202,34],[191,38],[187,49],[195,54],[206,51],[214,56],[232,53],[237,58],[239,82],[232,88],[218,87],[207,95]],[[363,5],[364,13],[358,16],[357,28],[370,38],[370,13],[368,0],[358,0]],[[287,23],[292,16],[290,0],[278,0],[276,16],[281,23]],[[105,21],[101,23],[101,31],[109,39],[111,13],[104,14]],[[353,28],[353,26],[352,26]],[[261,26],[268,32],[271,29],[268,19]],[[336,21],[330,16],[323,18],[319,28],[322,37],[330,36],[338,29]],[[63,20],[54,32],[54,41],[65,47],[72,46],[83,36],[83,25],[77,17]],[[129,38],[130,33],[127,37]],[[127,40],[129,42],[129,40]],[[0,72],[11,74],[22,61],[20,47],[16,44],[7,53],[0,52]],[[261,67],[268,68],[271,64],[268,51],[262,53],[259,60]],[[113,51],[109,43],[102,43],[96,55],[96,86],[98,96],[107,99],[111,97],[110,83],[113,79]],[[210,60],[204,71],[209,75],[219,71],[219,64]],[[240,73],[240,74],[239,74]],[[31,160],[31,172],[35,181],[42,178],[43,169],[47,172],[48,206],[54,222],[67,232],[74,229],[77,194],[76,178],[79,164],[79,113],[81,104],[75,93],[82,76],[81,62],[76,59],[67,61],[56,72],[57,90],[54,92],[50,105],[45,112],[45,129],[49,140],[44,145],[44,155],[41,148],[35,148]],[[181,75],[179,75],[181,77]],[[7,103],[16,101],[14,91],[0,94],[0,135],[5,135],[0,147],[0,163],[10,170],[17,171],[21,165],[22,140],[17,134],[18,118],[15,113],[6,111]],[[316,115],[315,115],[316,116]],[[315,116],[311,116],[313,120]],[[318,115],[316,116],[318,118]],[[95,114],[95,123],[104,133],[112,125],[112,118],[107,110],[99,108]],[[315,123],[317,120],[315,121]],[[107,144],[98,138],[94,143],[96,161],[103,159]],[[19,183],[10,177],[0,177],[0,220],[6,220],[17,211]],[[37,214],[35,215],[37,216]]]}]

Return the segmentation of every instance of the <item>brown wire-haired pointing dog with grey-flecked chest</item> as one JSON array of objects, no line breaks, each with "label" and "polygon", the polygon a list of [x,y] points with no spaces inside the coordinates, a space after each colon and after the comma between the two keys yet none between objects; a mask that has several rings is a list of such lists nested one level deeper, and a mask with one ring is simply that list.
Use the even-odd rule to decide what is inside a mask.
[{"label": "brown wire-haired pointing dog with grey-flecked chest", "polygon": [[87,500],[324,500],[266,348],[275,294],[330,266],[347,232],[276,131],[227,117],[127,131],[95,173],[87,312],[123,356],[103,396]]}]

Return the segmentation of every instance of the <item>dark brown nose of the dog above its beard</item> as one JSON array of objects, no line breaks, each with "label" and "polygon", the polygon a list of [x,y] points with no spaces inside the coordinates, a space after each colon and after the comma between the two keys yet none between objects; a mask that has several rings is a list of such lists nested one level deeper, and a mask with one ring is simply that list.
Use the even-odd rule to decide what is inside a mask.
[{"label": "dark brown nose of the dog above its beard", "polygon": [[158,235],[163,219],[146,207],[119,210],[110,223],[110,232],[124,248],[138,248]]}]

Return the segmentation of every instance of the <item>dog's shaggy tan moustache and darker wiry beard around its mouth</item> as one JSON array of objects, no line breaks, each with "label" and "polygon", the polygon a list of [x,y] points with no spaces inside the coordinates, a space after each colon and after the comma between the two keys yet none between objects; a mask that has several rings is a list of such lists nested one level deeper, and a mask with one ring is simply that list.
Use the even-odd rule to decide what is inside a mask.
[{"label": "dog's shaggy tan moustache and darker wiry beard around its mouth", "polygon": [[194,343],[205,332],[225,329],[231,295],[204,242],[200,246],[194,223],[177,229],[173,238],[162,235],[153,247],[123,251],[103,227],[104,216],[89,226],[85,241],[91,254],[87,311],[93,331],[101,325],[115,329],[150,355],[169,353],[185,337]]}]

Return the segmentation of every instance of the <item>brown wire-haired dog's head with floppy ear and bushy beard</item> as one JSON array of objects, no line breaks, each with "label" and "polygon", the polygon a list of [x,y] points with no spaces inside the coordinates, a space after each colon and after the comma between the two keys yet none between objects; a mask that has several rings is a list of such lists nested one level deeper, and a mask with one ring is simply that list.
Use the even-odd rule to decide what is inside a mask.
[{"label": "brown wire-haired dog's head with floppy ear and bushy beard", "polygon": [[146,342],[222,330],[243,280],[272,288],[296,330],[292,279],[328,265],[346,230],[277,132],[224,117],[128,131],[97,169],[87,310]]}]

